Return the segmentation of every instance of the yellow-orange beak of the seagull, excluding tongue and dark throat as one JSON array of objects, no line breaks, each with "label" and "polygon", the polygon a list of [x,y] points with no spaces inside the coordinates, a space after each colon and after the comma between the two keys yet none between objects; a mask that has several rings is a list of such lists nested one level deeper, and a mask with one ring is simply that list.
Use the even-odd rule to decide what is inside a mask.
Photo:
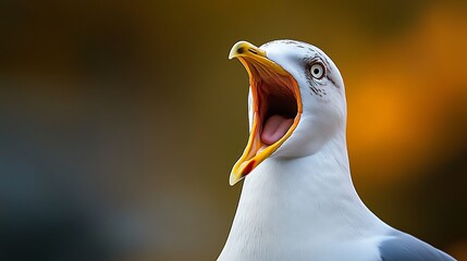
[{"label": "yellow-orange beak of the seagull, excluding tongue and dark throat", "polygon": [[[253,95],[253,125],[248,144],[239,160],[234,164],[230,184],[234,185],[248,175],[263,160],[269,158],[294,132],[302,116],[302,100],[295,78],[279,64],[268,59],[266,51],[247,41],[239,41],[232,47],[229,59],[237,58],[248,72]],[[271,108],[268,101],[270,92],[288,92],[288,100],[294,100],[294,117],[291,127],[273,144],[261,140],[261,132]],[[292,98],[291,98],[292,97]]]}]

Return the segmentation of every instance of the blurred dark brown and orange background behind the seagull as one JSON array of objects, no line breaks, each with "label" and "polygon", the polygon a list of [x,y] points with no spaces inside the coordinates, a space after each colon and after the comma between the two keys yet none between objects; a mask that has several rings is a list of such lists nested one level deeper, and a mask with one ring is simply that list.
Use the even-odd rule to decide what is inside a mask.
[{"label": "blurred dark brown and orange background behind the seagull", "polygon": [[467,4],[0,2],[0,259],[214,260],[242,185],[230,48],[298,39],[347,91],[353,178],[389,224],[467,260]]}]

